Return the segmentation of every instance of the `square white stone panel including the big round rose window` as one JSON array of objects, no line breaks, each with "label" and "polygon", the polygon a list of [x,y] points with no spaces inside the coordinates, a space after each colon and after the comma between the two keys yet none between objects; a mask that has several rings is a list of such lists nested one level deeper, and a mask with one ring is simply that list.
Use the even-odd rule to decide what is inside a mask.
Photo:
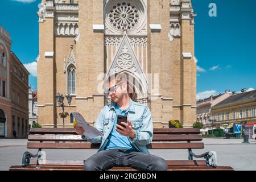
[{"label": "square white stone panel including the big round rose window", "polygon": [[107,0],[104,3],[105,34],[147,35],[145,0]]}]

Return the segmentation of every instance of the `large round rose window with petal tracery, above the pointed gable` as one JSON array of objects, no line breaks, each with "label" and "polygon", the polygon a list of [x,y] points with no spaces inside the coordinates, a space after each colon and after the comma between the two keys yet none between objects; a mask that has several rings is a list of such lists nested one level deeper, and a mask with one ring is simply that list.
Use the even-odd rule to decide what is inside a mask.
[{"label": "large round rose window with petal tracery, above the pointed gable", "polygon": [[137,8],[128,2],[117,3],[109,11],[109,22],[117,30],[132,30],[139,22],[139,12]]}]

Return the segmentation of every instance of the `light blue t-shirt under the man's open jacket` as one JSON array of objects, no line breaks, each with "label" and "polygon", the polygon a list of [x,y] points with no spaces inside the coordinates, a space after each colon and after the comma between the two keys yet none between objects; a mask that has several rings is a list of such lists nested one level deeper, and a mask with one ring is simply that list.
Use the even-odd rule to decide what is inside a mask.
[{"label": "light blue t-shirt under the man's open jacket", "polygon": [[[115,110],[117,111],[117,115],[125,115],[129,107],[126,110],[121,110],[118,104],[115,104]],[[109,141],[105,146],[105,150],[114,148],[125,148],[137,151],[137,149],[131,144],[129,137],[125,137],[122,134],[119,134],[118,131],[115,130],[115,127],[117,127],[117,117],[115,118],[113,129],[109,134]]]}]

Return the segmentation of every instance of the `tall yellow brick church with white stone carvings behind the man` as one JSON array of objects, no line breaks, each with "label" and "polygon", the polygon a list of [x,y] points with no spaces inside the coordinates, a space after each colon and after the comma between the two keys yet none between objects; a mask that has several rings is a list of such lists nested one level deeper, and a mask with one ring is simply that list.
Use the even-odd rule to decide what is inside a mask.
[{"label": "tall yellow brick church with white stone carvings behind the man", "polygon": [[[196,14],[190,0],[42,0],[38,16],[43,127],[63,127],[57,93],[73,96],[65,111],[93,123],[110,102],[102,83],[113,73],[129,74],[133,100],[150,107],[155,127],[168,127],[170,119],[184,127],[196,121]],[[70,118],[65,126],[73,126]]]}]

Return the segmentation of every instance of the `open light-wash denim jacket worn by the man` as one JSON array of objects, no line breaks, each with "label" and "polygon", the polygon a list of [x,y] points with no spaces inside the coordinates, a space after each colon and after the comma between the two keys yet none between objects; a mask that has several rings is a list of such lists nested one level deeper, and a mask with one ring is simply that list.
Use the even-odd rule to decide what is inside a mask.
[{"label": "open light-wash denim jacket worn by the man", "polygon": [[[150,109],[132,100],[130,100],[130,102],[130,107],[127,110],[127,119],[131,121],[136,137],[134,139],[129,137],[129,140],[138,151],[150,154],[146,147],[153,139],[153,123]],[[98,151],[104,150],[109,140],[110,131],[114,126],[114,121],[117,117],[114,104],[115,103],[104,106],[94,123],[94,127],[104,135],[87,139],[90,143],[101,143]]]}]

